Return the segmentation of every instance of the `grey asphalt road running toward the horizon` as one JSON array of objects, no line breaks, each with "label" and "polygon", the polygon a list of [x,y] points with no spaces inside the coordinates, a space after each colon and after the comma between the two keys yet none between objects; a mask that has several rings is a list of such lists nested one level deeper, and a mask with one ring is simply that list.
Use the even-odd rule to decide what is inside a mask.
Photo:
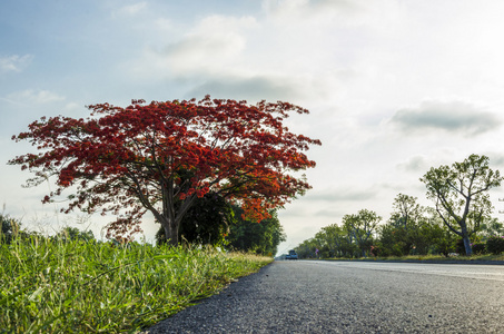
[{"label": "grey asphalt road running toward the horizon", "polygon": [[275,262],[146,333],[504,333],[504,266]]}]

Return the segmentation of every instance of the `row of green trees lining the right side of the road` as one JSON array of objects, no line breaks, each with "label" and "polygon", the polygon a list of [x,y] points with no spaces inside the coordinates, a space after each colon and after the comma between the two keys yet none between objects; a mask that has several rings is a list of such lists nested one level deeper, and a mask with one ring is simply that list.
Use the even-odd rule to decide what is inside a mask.
[{"label": "row of green trees lining the right side of the road", "polygon": [[488,190],[503,178],[488,167],[488,157],[471,155],[452,166],[431,168],[422,178],[434,207],[398,194],[391,217],[362,209],[340,224],[323,227],[295,250],[300,258],[404,256],[504,252],[504,224],[491,217]]}]

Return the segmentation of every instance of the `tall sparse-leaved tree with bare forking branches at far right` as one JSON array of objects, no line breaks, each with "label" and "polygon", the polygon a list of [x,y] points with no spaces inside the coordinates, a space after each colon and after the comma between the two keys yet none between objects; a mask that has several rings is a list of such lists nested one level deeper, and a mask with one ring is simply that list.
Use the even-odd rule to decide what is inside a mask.
[{"label": "tall sparse-leaved tree with bare forking branches at far right", "polygon": [[433,167],[421,178],[443,223],[464,240],[466,255],[472,255],[471,236],[492,212],[487,191],[501,186],[502,179],[498,170],[488,167],[488,157],[478,155]]}]

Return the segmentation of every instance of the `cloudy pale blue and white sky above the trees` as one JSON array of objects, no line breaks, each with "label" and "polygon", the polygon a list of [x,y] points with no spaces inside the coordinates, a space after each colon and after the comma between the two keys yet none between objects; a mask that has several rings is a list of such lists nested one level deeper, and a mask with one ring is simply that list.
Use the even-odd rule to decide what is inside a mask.
[{"label": "cloudy pale blue and white sky above the trees", "polygon": [[21,187],[30,174],[7,161],[33,148],[12,135],[93,104],[209,94],[310,111],[286,124],[323,145],[307,153],[313,189],[279,212],[280,253],[364,208],[385,223],[399,193],[432,206],[431,167],[477,154],[504,168],[503,13],[500,0],[3,0],[0,205],[32,229],[100,236],[103,217],[41,204],[53,184]]}]

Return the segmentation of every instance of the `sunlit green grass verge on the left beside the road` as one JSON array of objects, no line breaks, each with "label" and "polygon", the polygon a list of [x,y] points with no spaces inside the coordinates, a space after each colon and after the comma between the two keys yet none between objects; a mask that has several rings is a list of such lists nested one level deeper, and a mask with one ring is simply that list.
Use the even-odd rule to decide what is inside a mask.
[{"label": "sunlit green grass verge on the left beside the road", "polygon": [[270,261],[148,244],[0,244],[0,333],[135,333]]}]

